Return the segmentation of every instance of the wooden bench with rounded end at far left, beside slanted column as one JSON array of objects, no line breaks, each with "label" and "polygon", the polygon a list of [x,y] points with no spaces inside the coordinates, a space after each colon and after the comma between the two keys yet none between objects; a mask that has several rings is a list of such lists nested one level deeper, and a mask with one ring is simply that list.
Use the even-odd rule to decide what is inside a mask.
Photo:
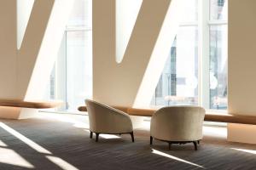
[{"label": "wooden bench with rounded end at far left, beside slanted column", "polygon": [[19,99],[0,99],[0,106],[20,107],[31,109],[49,109],[61,105],[61,101],[23,101]]}]

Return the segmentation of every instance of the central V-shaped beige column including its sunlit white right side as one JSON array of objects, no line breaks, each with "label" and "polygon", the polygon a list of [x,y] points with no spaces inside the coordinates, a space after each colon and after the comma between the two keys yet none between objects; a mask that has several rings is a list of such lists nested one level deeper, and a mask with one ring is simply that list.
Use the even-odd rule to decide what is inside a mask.
[{"label": "central V-shaped beige column including its sunlit white right side", "polygon": [[178,2],[143,1],[124,59],[117,64],[115,3],[93,1],[94,99],[110,105],[149,104],[177,31]]}]

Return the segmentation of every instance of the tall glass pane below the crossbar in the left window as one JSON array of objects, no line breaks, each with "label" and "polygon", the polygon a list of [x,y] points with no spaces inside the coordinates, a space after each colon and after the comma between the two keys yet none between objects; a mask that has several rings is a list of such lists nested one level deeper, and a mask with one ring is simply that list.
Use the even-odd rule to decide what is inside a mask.
[{"label": "tall glass pane below the crossbar in the left window", "polygon": [[67,109],[77,111],[92,95],[91,31],[67,31]]}]

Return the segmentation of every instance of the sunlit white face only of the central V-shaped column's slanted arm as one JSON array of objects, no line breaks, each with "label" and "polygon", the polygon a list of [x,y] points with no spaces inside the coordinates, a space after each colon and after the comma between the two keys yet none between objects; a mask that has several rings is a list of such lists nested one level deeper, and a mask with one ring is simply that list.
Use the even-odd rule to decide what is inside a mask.
[{"label": "sunlit white face only of the central V-shaped column's slanted arm", "polygon": [[160,27],[159,34],[155,39],[148,65],[137,91],[137,96],[133,104],[135,107],[143,107],[150,104],[154,89],[166,65],[166,59],[170,54],[171,44],[177,34],[180,20],[185,12],[185,1],[172,0],[168,5],[166,4],[166,16]]}]

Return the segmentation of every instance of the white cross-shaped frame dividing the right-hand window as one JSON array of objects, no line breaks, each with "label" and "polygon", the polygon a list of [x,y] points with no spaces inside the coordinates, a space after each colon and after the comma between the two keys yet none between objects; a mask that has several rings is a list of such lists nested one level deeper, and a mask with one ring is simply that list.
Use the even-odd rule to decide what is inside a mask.
[{"label": "white cross-shaped frame dividing the right-hand window", "polygon": [[[225,1],[228,3],[228,0]],[[195,21],[183,21],[179,27],[197,26],[198,30],[198,105],[210,110],[210,28],[228,26],[228,20],[211,20],[211,0],[198,0],[198,17]],[[228,4],[225,4],[228,5]],[[154,97],[155,93],[154,93]],[[154,102],[156,103],[156,102]],[[215,110],[218,111],[218,110]],[[224,111],[224,110],[222,110]]]}]

